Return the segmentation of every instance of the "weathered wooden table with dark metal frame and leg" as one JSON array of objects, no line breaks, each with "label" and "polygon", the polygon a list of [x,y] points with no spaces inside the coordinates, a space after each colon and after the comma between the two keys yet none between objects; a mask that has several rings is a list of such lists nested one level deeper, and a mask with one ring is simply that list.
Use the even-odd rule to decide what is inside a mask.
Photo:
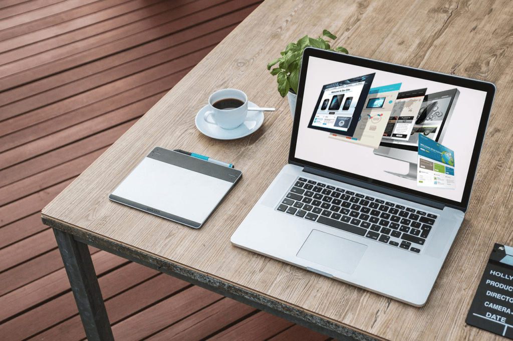
[{"label": "weathered wooden table with dark metal frame and leg", "polygon": [[[267,0],[44,210],[90,339],[110,327],[85,244],[119,254],[327,335],[358,339],[494,339],[465,317],[494,242],[510,228],[513,4],[470,1]],[[230,244],[286,163],[291,117],[267,62],[323,29],[351,54],[492,81],[497,97],[465,221],[429,300],[412,307]],[[214,140],[194,117],[214,90],[237,88],[274,106],[254,134]],[[113,203],[108,194],[153,146],[233,162],[244,176],[200,230]]]}]

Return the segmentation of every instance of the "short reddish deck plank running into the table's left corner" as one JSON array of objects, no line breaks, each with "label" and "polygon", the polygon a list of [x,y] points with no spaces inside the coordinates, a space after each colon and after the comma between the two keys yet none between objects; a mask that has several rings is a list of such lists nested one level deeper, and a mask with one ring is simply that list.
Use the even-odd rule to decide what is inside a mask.
[{"label": "short reddish deck plank running into the table's left corner", "polygon": [[36,212],[26,218],[17,220],[0,228],[0,248],[16,243],[24,238],[35,235],[35,233],[46,230],[48,226],[41,221],[41,213]]}]

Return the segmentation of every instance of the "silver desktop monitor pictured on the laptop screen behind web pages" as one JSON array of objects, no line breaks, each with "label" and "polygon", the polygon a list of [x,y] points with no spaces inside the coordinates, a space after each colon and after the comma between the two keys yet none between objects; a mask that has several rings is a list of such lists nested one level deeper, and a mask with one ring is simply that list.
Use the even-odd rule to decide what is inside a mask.
[{"label": "silver desktop monitor pictured on the laptop screen behind web pages", "polygon": [[425,95],[409,139],[407,141],[390,138],[381,140],[379,148],[373,151],[374,154],[405,161],[409,165],[406,174],[385,172],[398,177],[417,180],[419,134],[424,134],[443,144],[443,138],[459,94],[458,89],[451,89]]}]

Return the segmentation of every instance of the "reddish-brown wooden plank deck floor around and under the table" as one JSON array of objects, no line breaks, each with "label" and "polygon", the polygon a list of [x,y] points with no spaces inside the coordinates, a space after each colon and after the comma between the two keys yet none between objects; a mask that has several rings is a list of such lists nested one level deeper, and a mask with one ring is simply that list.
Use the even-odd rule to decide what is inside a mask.
[{"label": "reddish-brown wooden plank deck floor around and under the table", "polygon": [[[0,339],[85,337],[41,209],[259,3],[0,1]],[[327,339],[91,253],[116,339]]]}]

